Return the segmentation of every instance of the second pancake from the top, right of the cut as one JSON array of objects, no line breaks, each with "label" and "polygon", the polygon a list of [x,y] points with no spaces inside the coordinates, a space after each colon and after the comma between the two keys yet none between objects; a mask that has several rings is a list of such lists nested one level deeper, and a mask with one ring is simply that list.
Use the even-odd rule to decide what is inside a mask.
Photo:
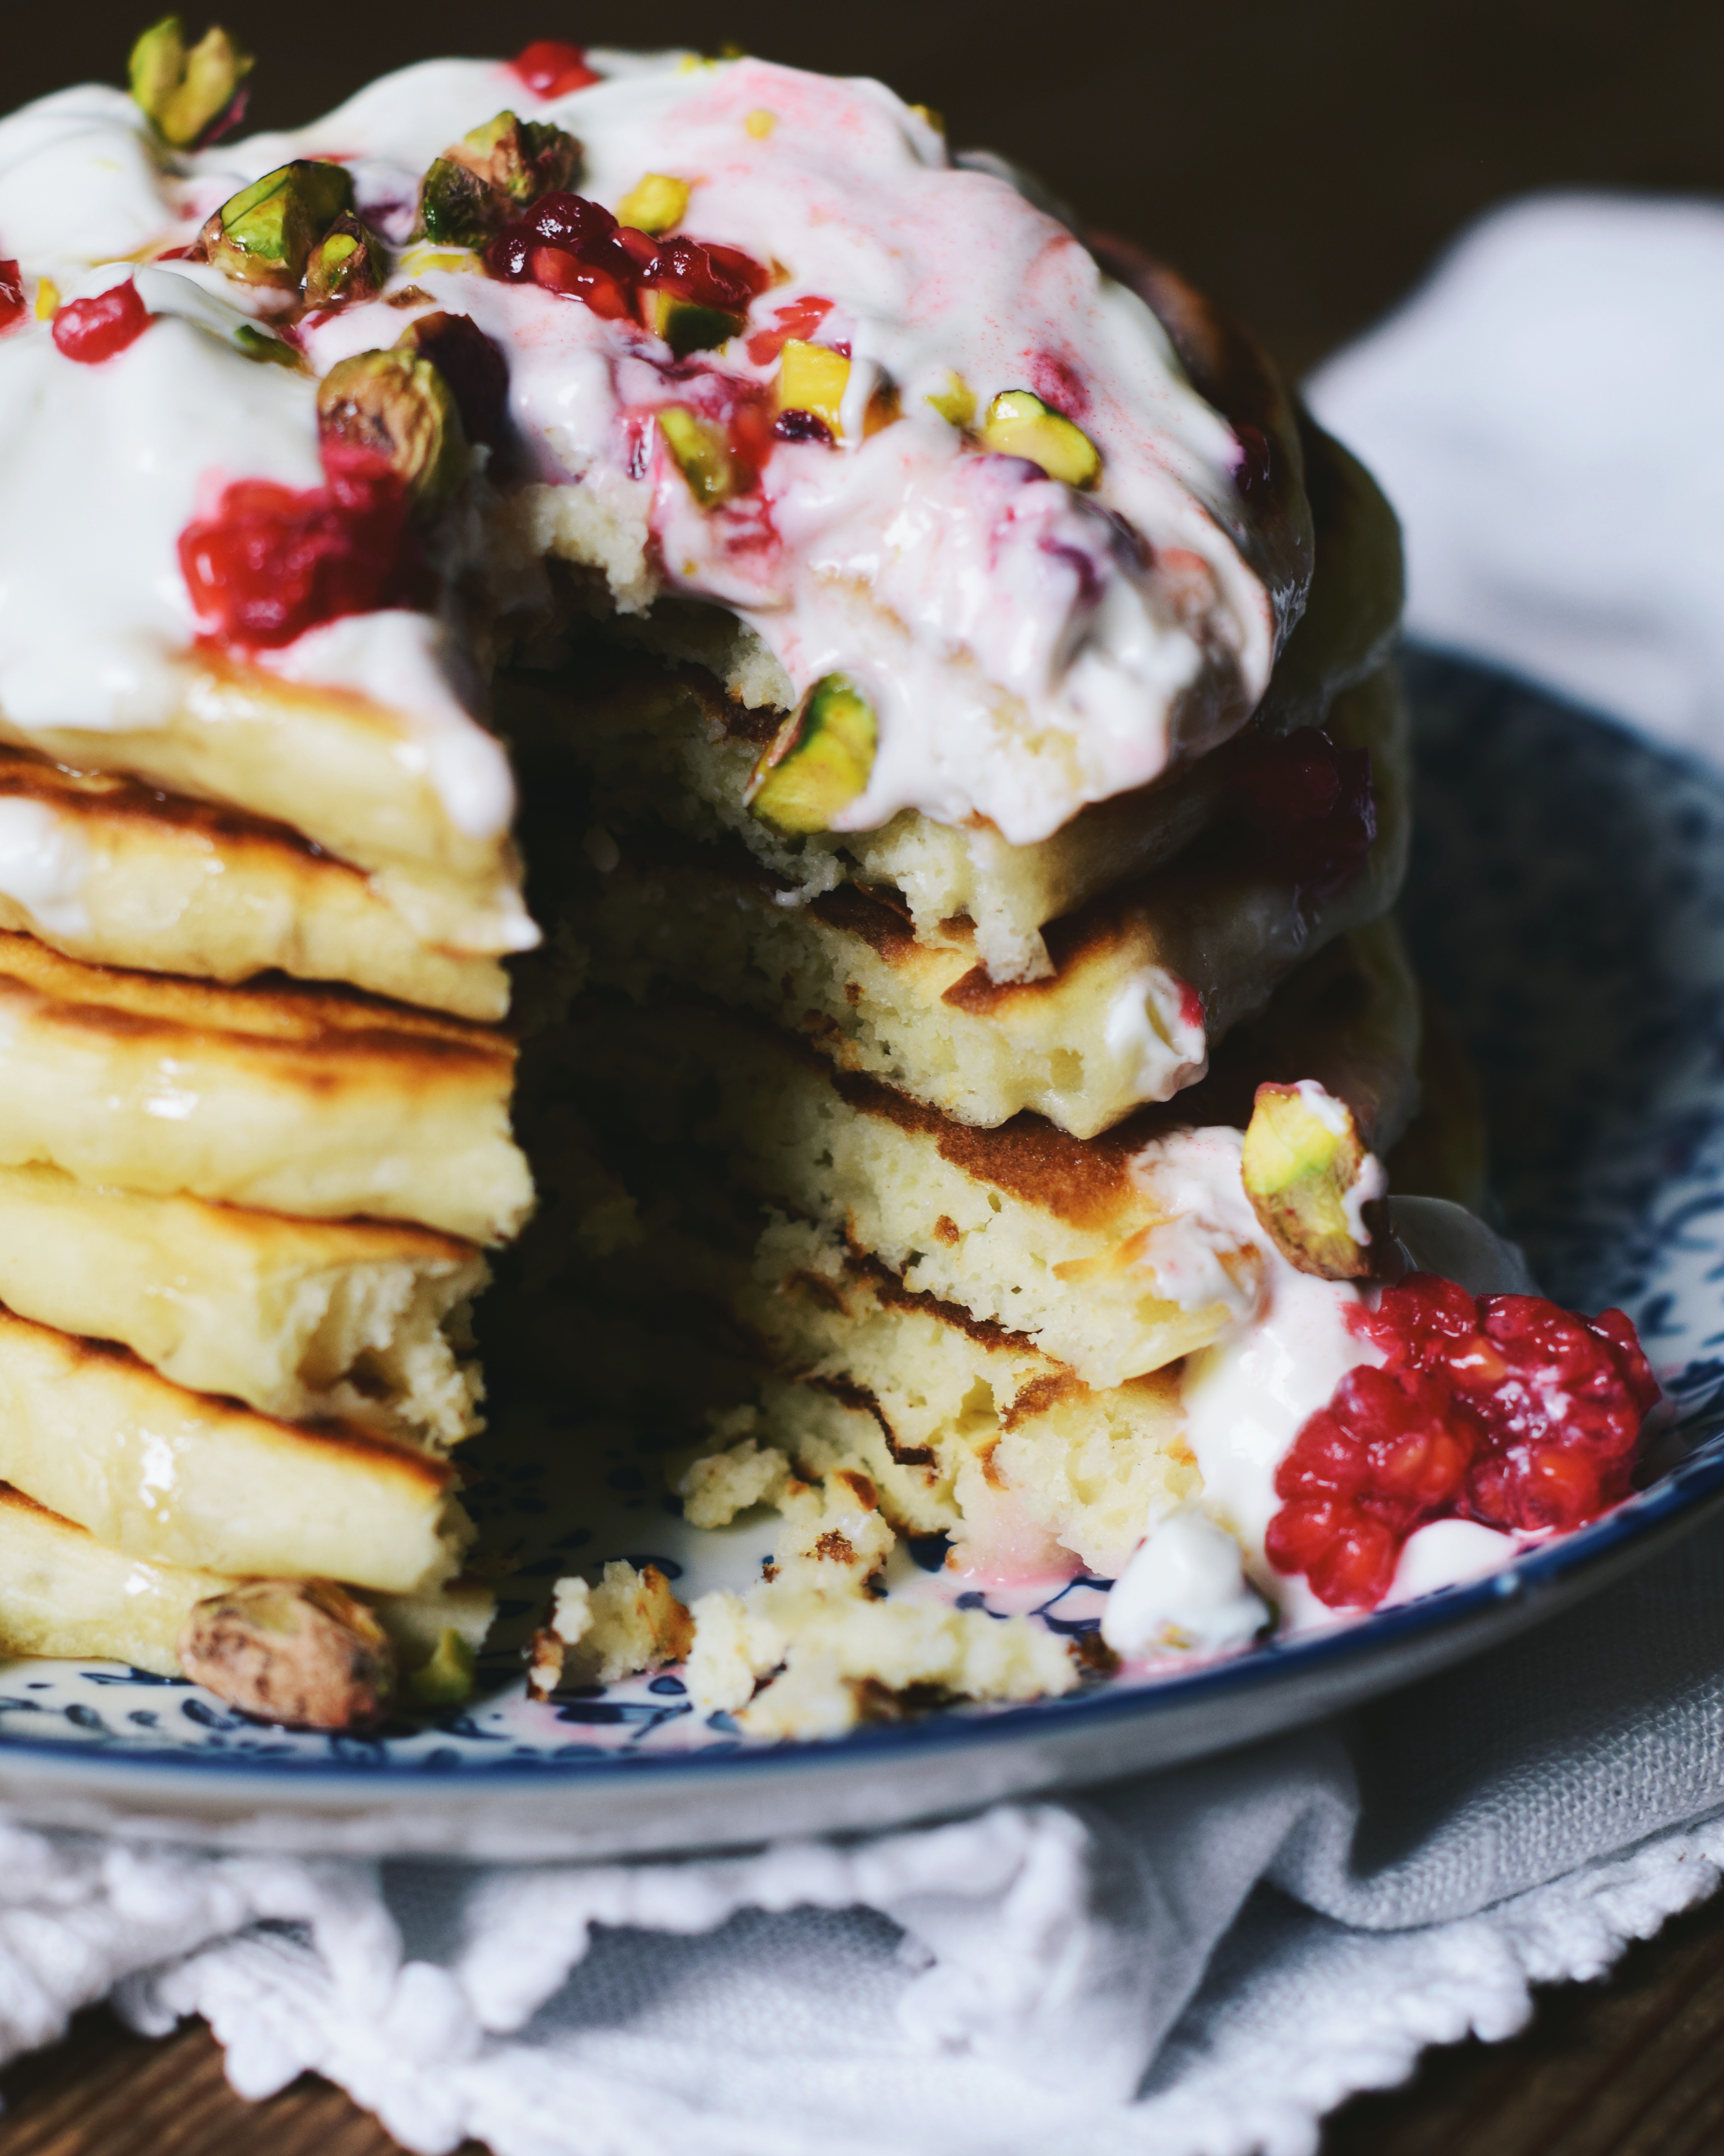
[{"label": "second pancake from the top, right of the cut", "polygon": [[1256,841],[1187,856],[1052,923],[1054,970],[1002,985],[965,931],[929,946],[879,895],[847,886],[795,906],[741,849],[629,834],[580,916],[590,977],[636,996],[659,979],[722,981],[845,1069],[957,1121],[993,1128],[1032,1108],[1088,1138],[1200,1076],[1299,962],[1394,903],[1409,834],[1394,675],[1343,696],[1332,733],[1366,748],[1377,800],[1371,852],[1334,890],[1265,873]]}]

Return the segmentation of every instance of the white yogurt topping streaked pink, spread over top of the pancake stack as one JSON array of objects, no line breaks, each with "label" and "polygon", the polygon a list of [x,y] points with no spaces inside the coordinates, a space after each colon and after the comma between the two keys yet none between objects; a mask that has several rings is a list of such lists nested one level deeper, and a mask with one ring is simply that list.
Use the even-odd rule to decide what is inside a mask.
[{"label": "white yogurt topping streaked pink, spread over top of the pancake stack", "polygon": [[[834,302],[812,334],[851,347],[843,446],[778,444],[759,489],[700,509],[651,414],[763,390],[776,360],[735,338],[672,364],[575,300],[412,257],[397,285],[504,343],[537,476],[649,530],[649,582],[733,606],[797,690],[838,668],[862,681],[879,755],[845,828],[914,806],[1028,843],[1233,731],[1267,681],[1274,608],[1235,545],[1235,438],[1149,308],[1006,181],[953,168],[875,82],[759,60],[608,65],[614,80],[541,106],[506,67],[427,63],[293,136],[190,160],[157,153],[123,95],[67,91],[0,121],[0,257],[65,295],[112,282],[123,272],[103,265],[185,244],[293,155],[351,160],[366,216],[405,241],[442,149],[504,106],[556,119],[584,142],[588,196],[614,209],[646,172],[683,177],[687,233],[780,265],[752,328],[806,295]],[[209,272],[181,280],[220,306]],[[220,321],[159,274],[140,289],[198,328],[159,321],[99,367],[60,358],[43,326],[0,338],[0,707],[19,724],[159,722],[192,627],[172,541],[207,474],[319,479],[312,382],[224,349]],[[231,300],[272,304],[244,287]],[[403,319],[381,302],[330,317],[308,332],[312,367],[392,345]],[[1011,388],[1067,410],[1101,451],[1095,494],[978,455],[927,403],[955,373],[978,410]],[[903,418],[864,438],[871,379],[894,384]],[[379,627],[375,653],[366,636],[319,647],[351,668],[319,679],[388,673],[399,632]],[[425,679],[403,677],[397,701]],[[481,828],[502,789],[463,740],[476,729],[459,690],[444,677],[414,716],[416,737],[446,744],[431,763],[450,811]],[[468,783],[457,808],[448,789]]]}]

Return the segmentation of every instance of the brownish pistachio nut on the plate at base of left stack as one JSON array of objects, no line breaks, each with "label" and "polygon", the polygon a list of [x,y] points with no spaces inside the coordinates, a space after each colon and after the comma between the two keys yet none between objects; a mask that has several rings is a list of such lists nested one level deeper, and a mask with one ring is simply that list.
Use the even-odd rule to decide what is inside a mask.
[{"label": "brownish pistachio nut on the plate at base of left stack", "polygon": [[394,1649],[334,1580],[248,1580],[192,1606],[179,1664],[265,1723],[375,1729],[394,1699]]}]

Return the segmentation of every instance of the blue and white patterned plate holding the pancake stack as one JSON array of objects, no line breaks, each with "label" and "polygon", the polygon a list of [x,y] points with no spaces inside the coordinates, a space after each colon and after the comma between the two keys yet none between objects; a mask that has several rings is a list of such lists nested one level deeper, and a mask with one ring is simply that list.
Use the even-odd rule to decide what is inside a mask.
[{"label": "blue and white patterned plate holding the pancake stack", "polygon": [[[560,1572],[653,1557],[683,1593],[739,1587],[769,1529],[694,1535],[649,1494],[651,1440],[517,1401],[485,1440],[474,1505],[519,1546],[474,1703],[323,1738],[121,1667],[15,1662],[0,1798],[60,1824],[515,1858],[884,1826],[1349,1705],[1593,1591],[1724,1503],[1724,780],[1498,675],[1431,655],[1407,671],[1407,927],[1478,1063],[1508,1231],[1558,1300],[1633,1315],[1679,1404],[1642,1494],[1491,1580],[1183,1677],[765,1744],[694,1714],[672,1675],[524,1697],[519,1643]],[[1043,1621],[1093,1628],[1099,1589],[1073,1583]]]}]

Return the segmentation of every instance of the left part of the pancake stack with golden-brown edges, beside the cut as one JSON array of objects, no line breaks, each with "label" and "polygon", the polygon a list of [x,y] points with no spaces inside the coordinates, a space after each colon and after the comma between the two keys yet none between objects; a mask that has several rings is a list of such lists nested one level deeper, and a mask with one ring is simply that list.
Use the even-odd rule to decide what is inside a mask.
[{"label": "left part of the pancake stack with golden-brown edges, beside the cut", "polygon": [[532,1199],[513,852],[381,705],[228,664],[155,731],[0,733],[0,1643],[338,1720],[265,1634],[364,1611],[235,1589],[353,1589],[407,1662],[483,1634],[450,1449]]}]

